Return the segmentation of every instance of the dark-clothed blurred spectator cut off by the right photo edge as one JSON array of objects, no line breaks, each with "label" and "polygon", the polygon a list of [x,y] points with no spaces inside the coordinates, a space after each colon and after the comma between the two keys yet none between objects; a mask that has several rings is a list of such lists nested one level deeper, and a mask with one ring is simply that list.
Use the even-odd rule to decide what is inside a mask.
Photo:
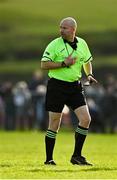
[{"label": "dark-clothed blurred spectator cut off by the right photo edge", "polygon": [[108,74],[105,83],[106,95],[102,102],[107,120],[107,130],[117,132],[117,80],[113,74]]}]

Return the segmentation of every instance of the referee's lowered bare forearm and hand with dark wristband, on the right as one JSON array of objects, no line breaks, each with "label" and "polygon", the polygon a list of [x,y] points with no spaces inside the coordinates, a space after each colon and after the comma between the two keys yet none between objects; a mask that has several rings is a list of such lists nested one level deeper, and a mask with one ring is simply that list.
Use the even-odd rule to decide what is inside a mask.
[{"label": "referee's lowered bare forearm and hand with dark wristband, on the right", "polygon": [[97,80],[94,78],[93,73],[92,73],[92,64],[91,64],[91,62],[89,61],[88,63],[84,64],[83,68],[84,68],[85,74],[87,75],[88,81],[90,83],[92,83],[92,82],[97,83]]}]

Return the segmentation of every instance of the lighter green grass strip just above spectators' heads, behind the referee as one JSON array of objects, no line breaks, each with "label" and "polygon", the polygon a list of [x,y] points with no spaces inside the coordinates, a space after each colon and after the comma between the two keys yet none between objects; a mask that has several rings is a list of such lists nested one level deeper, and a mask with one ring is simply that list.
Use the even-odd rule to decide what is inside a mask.
[{"label": "lighter green grass strip just above spectators' heads, behind the referee", "polygon": [[[106,64],[105,64],[106,62]],[[117,56],[95,56],[92,61],[93,68],[100,68],[102,66],[117,66]],[[0,62],[0,73],[11,74],[32,74],[36,69],[40,69],[40,59],[32,60],[14,60],[14,61],[2,61]],[[47,71],[43,71],[46,73]]]}]

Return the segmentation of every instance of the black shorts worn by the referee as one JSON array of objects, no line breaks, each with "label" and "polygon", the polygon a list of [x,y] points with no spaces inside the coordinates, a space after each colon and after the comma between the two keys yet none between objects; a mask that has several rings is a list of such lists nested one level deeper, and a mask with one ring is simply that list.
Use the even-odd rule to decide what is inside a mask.
[{"label": "black shorts worn by the referee", "polygon": [[65,82],[51,78],[46,93],[46,110],[62,112],[64,105],[75,110],[86,104],[81,82]]}]

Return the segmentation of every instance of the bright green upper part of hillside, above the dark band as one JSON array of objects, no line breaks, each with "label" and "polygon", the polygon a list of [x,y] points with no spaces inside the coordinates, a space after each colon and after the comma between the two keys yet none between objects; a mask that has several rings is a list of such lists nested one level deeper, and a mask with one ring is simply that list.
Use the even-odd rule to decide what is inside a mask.
[{"label": "bright green upper part of hillside, above the dark band", "polygon": [[105,31],[116,29],[116,6],[116,0],[2,0],[0,22],[16,32],[28,34],[47,34],[48,26],[51,34],[60,19],[73,16],[78,19],[82,32]]}]

